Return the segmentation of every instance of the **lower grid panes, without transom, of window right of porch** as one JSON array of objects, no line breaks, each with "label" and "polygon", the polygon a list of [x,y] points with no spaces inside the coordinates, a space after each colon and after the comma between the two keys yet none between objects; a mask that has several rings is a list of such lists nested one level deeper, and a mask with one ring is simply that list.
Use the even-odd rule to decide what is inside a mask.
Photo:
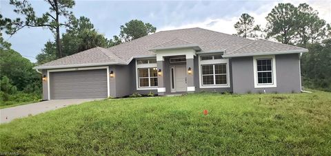
[{"label": "lower grid panes, without transom, of window right of porch", "polygon": [[203,85],[227,84],[226,64],[201,65]]}]

